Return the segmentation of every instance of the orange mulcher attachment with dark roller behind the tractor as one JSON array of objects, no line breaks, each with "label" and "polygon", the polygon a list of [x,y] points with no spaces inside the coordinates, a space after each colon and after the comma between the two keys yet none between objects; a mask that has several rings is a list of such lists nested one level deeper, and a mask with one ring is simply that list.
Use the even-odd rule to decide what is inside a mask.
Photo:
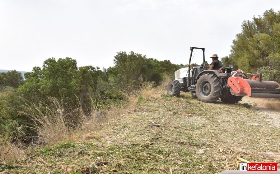
[{"label": "orange mulcher attachment with dark roller behind the tractor", "polygon": [[[236,76],[241,73],[242,77]],[[236,73],[228,78],[227,85],[230,86],[232,95],[258,98],[280,98],[280,89],[277,89],[280,85],[277,82],[262,81],[261,73],[256,75],[251,74],[253,75],[252,79],[249,79],[247,74],[242,72],[242,70],[237,70]]]}]

